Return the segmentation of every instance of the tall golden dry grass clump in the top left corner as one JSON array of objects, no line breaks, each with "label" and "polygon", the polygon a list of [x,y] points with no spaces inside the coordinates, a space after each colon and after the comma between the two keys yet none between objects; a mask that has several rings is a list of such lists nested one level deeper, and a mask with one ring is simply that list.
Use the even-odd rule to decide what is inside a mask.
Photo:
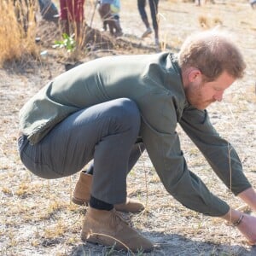
[{"label": "tall golden dry grass clump in the top left corner", "polygon": [[15,6],[13,1],[0,2],[0,67],[5,61],[38,55],[34,9],[26,7],[25,0],[16,1]]}]

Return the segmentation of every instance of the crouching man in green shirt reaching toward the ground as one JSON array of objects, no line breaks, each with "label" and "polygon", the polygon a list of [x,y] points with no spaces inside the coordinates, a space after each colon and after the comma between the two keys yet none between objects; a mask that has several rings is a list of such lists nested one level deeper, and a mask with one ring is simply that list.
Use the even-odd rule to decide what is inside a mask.
[{"label": "crouching man in green shirt reaching toward the ground", "polygon": [[[20,158],[39,177],[82,172],[73,201],[89,202],[84,241],[149,252],[153,244],[119,217],[139,212],[127,199],[126,175],[140,152],[168,192],[183,206],[234,224],[256,242],[256,218],[229,207],[190,172],[180,148],[177,123],[201,150],[218,177],[256,211],[256,194],[232,146],[219,137],[207,108],[240,79],[240,51],[217,31],[188,38],[178,55],[112,56],[62,73],[20,111]],[[232,177],[230,180],[230,170]]]}]

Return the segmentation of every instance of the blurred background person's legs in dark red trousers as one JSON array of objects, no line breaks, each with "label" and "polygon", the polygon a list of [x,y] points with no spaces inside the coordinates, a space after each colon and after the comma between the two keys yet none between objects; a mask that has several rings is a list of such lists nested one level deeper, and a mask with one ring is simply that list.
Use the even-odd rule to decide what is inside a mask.
[{"label": "blurred background person's legs in dark red trousers", "polygon": [[84,0],[60,0],[61,29],[63,33],[71,36],[75,33],[75,40],[80,44],[84,22]]}]

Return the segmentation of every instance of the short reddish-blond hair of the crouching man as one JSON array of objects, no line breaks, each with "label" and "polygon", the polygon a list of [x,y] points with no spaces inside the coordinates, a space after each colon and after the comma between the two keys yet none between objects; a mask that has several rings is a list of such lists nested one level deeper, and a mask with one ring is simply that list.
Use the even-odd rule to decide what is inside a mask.
[{"label": "short reddish-blond hair of the crouching man", "polygon": [[226,33],[218,29],[187,38],[177,58],[182,69],[196,67],[207,81],[217,79],[224,71],[234,79],[241,79],[246,68],[241,51]]}]

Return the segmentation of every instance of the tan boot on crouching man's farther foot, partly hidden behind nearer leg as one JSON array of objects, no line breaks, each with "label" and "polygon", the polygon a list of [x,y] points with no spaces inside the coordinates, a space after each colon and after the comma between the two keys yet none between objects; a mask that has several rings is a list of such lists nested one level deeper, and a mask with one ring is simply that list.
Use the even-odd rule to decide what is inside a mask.
[{"label": "tan boot on crouching man's farther foot, partly hidden behind nearer leg", "polygon": [[[91,183],[92,175],[85,172],[80,172],[79,181],[76,183],[75,189],[73,191],[73,203],[80,206],[88,206],[88,203],[90,201]],[[126,198],[125,203],[114,205],[114,208],[119,212],[136,213],[142,212],[145,207],[139,201]]]}]

